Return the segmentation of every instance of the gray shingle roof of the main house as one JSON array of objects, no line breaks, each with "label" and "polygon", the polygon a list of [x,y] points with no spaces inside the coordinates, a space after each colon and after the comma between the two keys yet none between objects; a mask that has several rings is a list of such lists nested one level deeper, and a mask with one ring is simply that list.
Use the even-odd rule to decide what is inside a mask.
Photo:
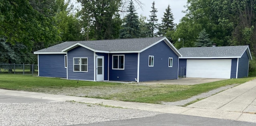
[{"label": "gray shingle roof of the main house", "polygon": [[140,51],[164,37],[146,37],[134,39],[110,39],[110,40],[90,40],[90,41],[66,41],[45,49],[35,51],[34,53],[61,53],[75,43],[80,43],[99,51]]}]

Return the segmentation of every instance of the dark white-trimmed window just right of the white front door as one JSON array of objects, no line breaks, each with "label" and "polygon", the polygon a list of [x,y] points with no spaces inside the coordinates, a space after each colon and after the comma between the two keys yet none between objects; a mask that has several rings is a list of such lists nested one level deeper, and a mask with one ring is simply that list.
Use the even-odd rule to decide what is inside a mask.
[{"label": "dark white-trimmed window just right of the white front door", "polygon": [[124,69],[124,55],[112,55],[112,69]]}]

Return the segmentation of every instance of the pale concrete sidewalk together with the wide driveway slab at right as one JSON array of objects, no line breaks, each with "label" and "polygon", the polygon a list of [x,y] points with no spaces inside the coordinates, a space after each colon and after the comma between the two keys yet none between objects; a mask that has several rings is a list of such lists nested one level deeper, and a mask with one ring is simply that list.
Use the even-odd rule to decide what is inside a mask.
[{"label": "pale concrete sidewalk together with the wide driveway slab at right", "polygon": [[187,107],[51,95],[25,91],[10,91],[4,89],[0,89],[0,94],[28,98],[42,98],[52,100],[53,102],[74,100],[77,102],[98,103],[123,108],[256,123],[256,80],[249,81],[232,89],[210,96]]}]

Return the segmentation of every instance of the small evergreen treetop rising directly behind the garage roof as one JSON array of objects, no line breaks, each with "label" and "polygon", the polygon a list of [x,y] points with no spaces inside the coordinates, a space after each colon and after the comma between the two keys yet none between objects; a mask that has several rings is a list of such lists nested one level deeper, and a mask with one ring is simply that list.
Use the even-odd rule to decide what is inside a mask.
[{"label": "small evergreen treetop rising directly behind the garage roof", "polygon": [[212,41],[209,38],[209,34],[205,29],[199,33],[198,39],[196,39],[195,47],[208,47],[212,45]]}]

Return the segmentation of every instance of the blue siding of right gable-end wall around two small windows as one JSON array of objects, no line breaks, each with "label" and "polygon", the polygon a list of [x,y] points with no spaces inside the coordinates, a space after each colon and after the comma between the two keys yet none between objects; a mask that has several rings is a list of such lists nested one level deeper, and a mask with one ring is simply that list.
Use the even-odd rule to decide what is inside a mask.
[{"label": "blue siding of right gable-end wall around two small windows", "polygon": [[[154,56],[154,67],[148,67],[148,56]],[[169,57],[173,58],[172,67],[168,67]],[[139,81],[165,80],[178,78],[178,55],[161,41],[140,53]]]}]

